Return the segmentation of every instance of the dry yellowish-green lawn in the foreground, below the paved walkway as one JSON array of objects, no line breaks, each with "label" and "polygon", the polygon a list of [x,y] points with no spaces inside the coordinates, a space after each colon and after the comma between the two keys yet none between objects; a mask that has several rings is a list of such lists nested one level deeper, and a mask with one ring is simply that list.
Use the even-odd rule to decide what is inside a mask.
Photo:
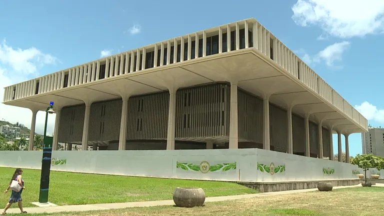
[{"label": "dry yellowish-green lawn in the foreground, below the paved walkway", "polygon": [[230,216],[350,216],[384,215],[382,200],[384,187],[354,187],[334,189],[329,192],[302,192],[267,195],[248,199],[207,202],[202,207],[180,208],[174,206],[125,208],[115,210],[28,214],[33,216],[168,216],[168,215],[230,215]]}]

